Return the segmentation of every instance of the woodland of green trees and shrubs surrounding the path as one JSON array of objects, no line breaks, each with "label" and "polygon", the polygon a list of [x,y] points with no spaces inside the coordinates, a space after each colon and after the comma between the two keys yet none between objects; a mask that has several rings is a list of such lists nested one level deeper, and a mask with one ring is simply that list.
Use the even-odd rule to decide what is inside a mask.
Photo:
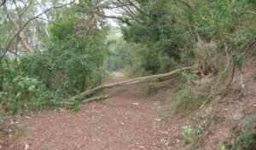
[{"label": "woodland of green trees and shrubs surrounding the path", "polygon": [[139,78],[197,65],[175,78],[191,86],[199,71],[216,78],[195,108],[230,86],[230,72],[240,73],[245,95],[242,67],[255,57],[255,28],[255,0],[3,0],[1,122],[8,114],[76,109],[103,91],[79,94],[120,69]]}]

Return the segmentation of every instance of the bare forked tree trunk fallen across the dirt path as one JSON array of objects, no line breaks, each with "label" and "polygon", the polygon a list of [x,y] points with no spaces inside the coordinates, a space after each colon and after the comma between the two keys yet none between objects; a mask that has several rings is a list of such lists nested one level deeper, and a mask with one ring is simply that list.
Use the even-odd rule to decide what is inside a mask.
[{"label": "bare forked tree trunk fallen across the dirt path", "polygon": [[[86,96],[94,94],[102,89],[112,89],[112,88],[118,88],[118,87],[120,88],[108,95],[101,95],[98,97],[85,99],[82,102],[88,103],[88,102],[92,102],[92,101],[99,101],[102,99],[107,99],[107,98],[113,97],[114,95],[118,95],[122,91],[129,90],[129,89],[166,85],[166,84],[170,83],[170,81],[172,81],[173,79],[176,79],[176,77],[180,74],[180,72],[183,72],[183,71],[195,72],[195,71],[197,71],[197,69],[198,69],[198,66],[195,65],[195,66],[183,67],[183,68],[177,69],[173,72],[168,72],[168,73],[164,73],[164,74],[147,76],[147,77],[143,77],[143,78],[133,78],[133,79],[130,79],[127,81],[122,81],[122,82],[113,83],[113,84],[103,84],[94,89],[86,90],[86,91],[80,93],[79,95],[74,95],[73,97],[64,99],[61,103],[70,104],[72,102],[68,102],[68,101],[76,101],[77,99],[83,100],[83,99],[85,99]],[[147,83],[145,84],[145,82],[147,82]]]}]

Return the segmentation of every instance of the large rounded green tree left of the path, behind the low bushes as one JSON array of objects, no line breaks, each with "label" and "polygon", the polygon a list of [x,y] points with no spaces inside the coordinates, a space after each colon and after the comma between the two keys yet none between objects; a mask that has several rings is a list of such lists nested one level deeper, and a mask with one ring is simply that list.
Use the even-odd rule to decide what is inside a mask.
[{"label": "large rounded green tree left of the path, behind the low bushes", "polygon": [[[107,76],[103,64],[108,54],[105,37],[108,26],[94,20],[84,23],[84,14],[68,9],[50,26],[52,38],[43,53],[24,55],[20,68],[30,77],[40,78],[45,88],[62,97],[79,94],[101,84]],[[71,17],[74,14],[77,17]]]}]

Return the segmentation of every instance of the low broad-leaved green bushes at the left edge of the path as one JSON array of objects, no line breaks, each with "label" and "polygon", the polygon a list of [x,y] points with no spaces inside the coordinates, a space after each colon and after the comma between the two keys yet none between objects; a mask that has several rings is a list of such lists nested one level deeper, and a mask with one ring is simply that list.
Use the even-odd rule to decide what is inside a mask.
[{"label": "low broad-leaved green bushes at the left edge of the path", "polygon": [[0,91],[0,119],[5,113],[18,113],[27,110],[51,109],[57,106],[60,97],[45,89],[38,78],[19,72],[16,61],[5,56],[0,67],[3,76]]}]

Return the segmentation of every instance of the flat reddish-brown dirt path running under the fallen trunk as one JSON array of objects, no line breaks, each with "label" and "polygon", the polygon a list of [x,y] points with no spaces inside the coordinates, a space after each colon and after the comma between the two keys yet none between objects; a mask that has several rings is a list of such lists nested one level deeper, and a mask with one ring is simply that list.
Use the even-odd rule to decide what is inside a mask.
[{"label": "flat reddish-brown dirt path running under the fallen trunk", "polygon": [[[125,79],[113,77],[107,82]],[[46,112],[26,117],[24,136],[18,135],[19,142],[5,148],[161,149],[157,137],[161,123],[156,120],[159,112],[157,101],[130,90],[105,101],[83,105],[77,113]]]}]

